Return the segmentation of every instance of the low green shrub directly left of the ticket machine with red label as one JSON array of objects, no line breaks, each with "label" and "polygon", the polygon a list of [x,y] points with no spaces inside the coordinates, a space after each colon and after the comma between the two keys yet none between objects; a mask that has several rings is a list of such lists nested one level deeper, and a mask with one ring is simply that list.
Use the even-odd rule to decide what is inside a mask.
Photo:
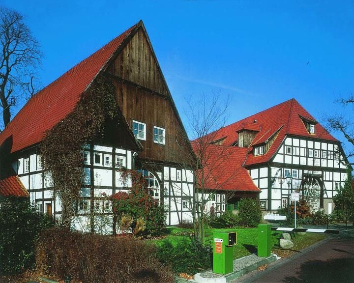
[{"label": "low green shrub directly left of the ticket machine with red label", "polygon": [[166,239],[157,247],[157,257],[164,264],[172,266],[175,273],[196,274],[211,267],[210,246],[203,246],[198,240],[184,239],[173,245]]}]

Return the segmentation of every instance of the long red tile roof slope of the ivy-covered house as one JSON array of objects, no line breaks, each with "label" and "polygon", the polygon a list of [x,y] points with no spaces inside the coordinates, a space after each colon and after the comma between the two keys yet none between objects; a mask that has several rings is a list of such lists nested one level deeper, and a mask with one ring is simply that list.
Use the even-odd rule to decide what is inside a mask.
[{"label": "long red tile roof slope of the ivy-covered house", "polygon": [[10,152],[42,141],[45,132],[72,112],[81,94],[140,22],[71,68],[34,95],[0,134],[0,145],[12,139]]}]

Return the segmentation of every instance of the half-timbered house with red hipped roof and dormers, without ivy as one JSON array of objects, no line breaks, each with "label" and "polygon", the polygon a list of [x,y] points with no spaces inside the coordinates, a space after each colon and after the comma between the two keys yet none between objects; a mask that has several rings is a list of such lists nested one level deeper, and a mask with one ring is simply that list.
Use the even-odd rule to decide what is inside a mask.
[{"label": "half-timbered house with red hipped roof and dormers, without ivy", "polygon": [[[217,144],[237,148],[242,156],[239,166],[248,170],[261,190],[263,210],[285,207],[291,192],[313,190],[318,195],[314,209],[332,212],[332,197],[346,179],[346,156],[341,143],[295,99],[223,127],[213,135]],[[236,174],[235,178],[239,187],[245,184],[243,177]]]}]

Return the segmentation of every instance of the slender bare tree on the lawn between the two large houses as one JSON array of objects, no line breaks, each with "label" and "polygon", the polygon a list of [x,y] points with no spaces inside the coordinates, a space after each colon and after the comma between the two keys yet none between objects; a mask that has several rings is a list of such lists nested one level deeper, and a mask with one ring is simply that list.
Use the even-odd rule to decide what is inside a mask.
[{"label": "slender bare tree on the lawn between the two large houses", "polygon": [[[232,174],[220,181],[220,174],[222,175],[223,172],[218,171],[218,168],[224,162],[228,162],[230,156],[230,148],[222,146],[222,142],[217,141],[220,140],[219,131],[225,125],[227,109],[228,98],[226,101],[221,101],[220,93],[214,92],[210,95],[204,95],[198,101],[189,101],[185,113],[188,117],[188,132],[193,140],[193,159],[196,160],[194,188],[190,188],[188,185],[189,194],[193,195],[194,192],[194,199],[189,202],[189,209],[192,211],[194,235],[203,244],[205,242],[205,222],[210,214],[210,211],[206,210],[206,204],[212,200],[213,195],[217,194],[218,190],[223,189],[230,179],[236,177],[239,170],[235,168]],[[215,144],[220,146],[215,147]],[[185,174],[190,169],[190,160],[192,160],[191,156],[186,158],[185,163],[179,165],[186,169],[184,170]],[[184,176],[184,178],[187,179],[187,176]],[[188,192],[183,194],[187,197]],[[219,207],[215,207],[215,209],[221,210]]]}]

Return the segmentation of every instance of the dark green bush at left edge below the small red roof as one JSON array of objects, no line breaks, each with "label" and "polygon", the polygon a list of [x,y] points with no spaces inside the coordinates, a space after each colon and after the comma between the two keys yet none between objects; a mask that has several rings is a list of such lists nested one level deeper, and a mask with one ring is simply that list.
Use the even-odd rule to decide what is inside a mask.
[{"label": "dark green bush at left edge below the small red roof", "polygon": [[[0,205],[0,266],[3,274],[19,274],[34,265],[34,240],[52,226],[28,198],[2,198]],[[0,270],[1,272],[1,270]]]}]

